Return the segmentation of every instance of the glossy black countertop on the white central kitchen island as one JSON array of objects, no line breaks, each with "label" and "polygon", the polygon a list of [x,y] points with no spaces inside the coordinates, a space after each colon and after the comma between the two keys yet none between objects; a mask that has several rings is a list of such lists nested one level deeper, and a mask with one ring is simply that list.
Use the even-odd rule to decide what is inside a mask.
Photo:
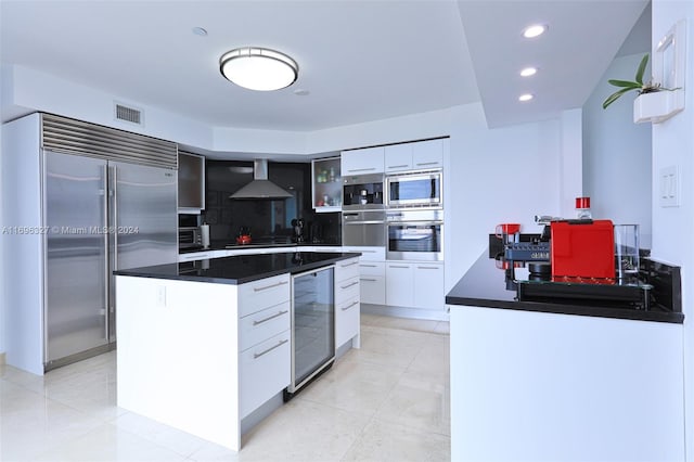
[{"label": "glossy black countertop on the white central kitchen island", "polygon": [[322,268],[339,260],[359,257],[359,253],[288,252],[253,254],[208,260],[181,261],[114,271],[116,275],[172,279],[179,281],[244,284],[285,273],[299,273]]}]

